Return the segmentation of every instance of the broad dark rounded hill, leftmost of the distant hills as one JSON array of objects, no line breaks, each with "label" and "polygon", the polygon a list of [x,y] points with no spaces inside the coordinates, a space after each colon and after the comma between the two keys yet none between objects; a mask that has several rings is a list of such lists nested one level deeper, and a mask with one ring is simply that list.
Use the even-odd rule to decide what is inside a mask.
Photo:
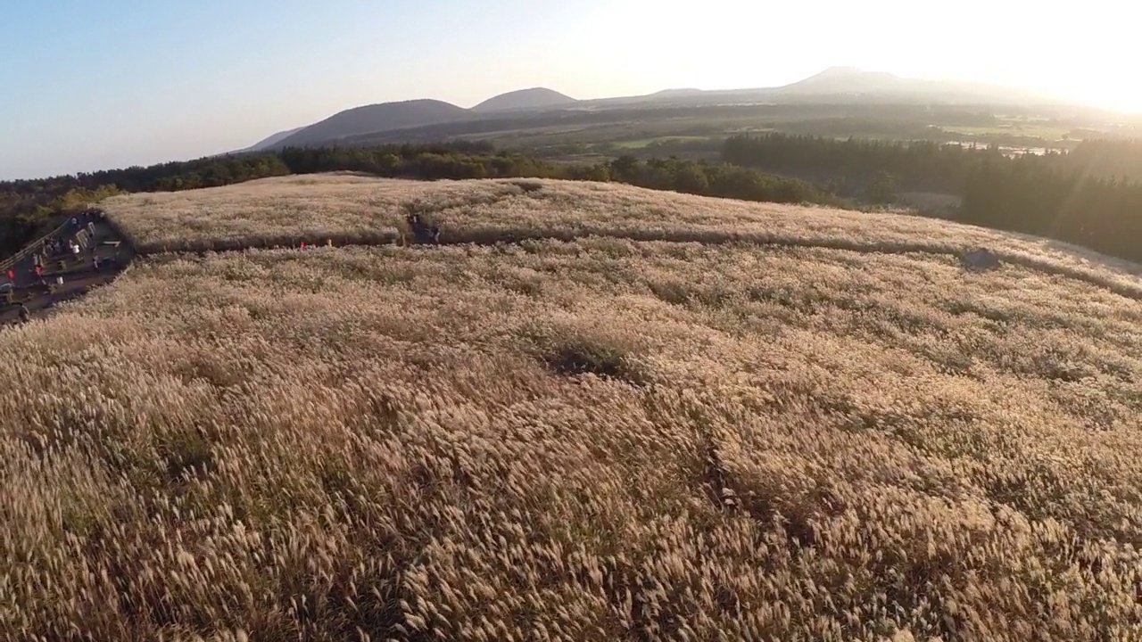
[{"label": "broad dark rounded hill, leftmost of the distant hills", "polygon": [[365,105],[338,112],[275,142],[272,146],[280,149],[331,143],[346,136],[424,127],[466,118],[472,118],[472,112],[468,110],[428,98]]}]

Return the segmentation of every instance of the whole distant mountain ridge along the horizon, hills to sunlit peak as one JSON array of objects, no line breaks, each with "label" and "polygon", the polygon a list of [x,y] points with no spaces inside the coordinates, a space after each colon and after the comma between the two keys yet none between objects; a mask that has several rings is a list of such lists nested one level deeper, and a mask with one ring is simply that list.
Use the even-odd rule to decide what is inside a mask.
[{"label": "whole distant mountain ridge along the horizon, hills to sunlit peak", "polygon": [[785,85],[755,89],[665,89],[643,96],[578,101],[545,87],[493,96],[472,109],[428,98],[364,105],[338,112],[296,130],[275,134],[242,151],[337,144],[347,138],[402,129],[475,120],[502,119],[528,112],[606,110],[633,106],[716,105],[727,103],[906,102],[1061,104],[1065,101],[1027,89],[984,83],[901,78],[891,73],[834,66]]}]

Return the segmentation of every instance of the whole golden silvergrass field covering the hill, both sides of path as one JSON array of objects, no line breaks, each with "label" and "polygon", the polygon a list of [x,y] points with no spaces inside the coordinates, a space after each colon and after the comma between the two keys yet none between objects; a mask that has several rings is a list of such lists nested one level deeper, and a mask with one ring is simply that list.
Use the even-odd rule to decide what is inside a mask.
[{"label": "whole golden silvergrass field covering the hill, both sides of path", "polygon": [[[453,234],[643,208],[899,254],[614,232],[142,259],[0,332],[0,637],[1142,637],[1129,266],[903,216],[319,180],[327,223],[298,179],[108,211],[144,244],[364,235],[416,193]],[[940,251],[970,234],[1038,263],[965,273]]]}]

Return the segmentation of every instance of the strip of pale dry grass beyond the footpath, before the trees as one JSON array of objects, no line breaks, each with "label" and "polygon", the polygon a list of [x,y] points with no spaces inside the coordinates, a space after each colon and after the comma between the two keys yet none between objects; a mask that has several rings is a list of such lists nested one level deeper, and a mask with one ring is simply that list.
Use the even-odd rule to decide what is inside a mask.
[{"label": "strip of pale dry grass beyond the footpath, before the trees", "polygon": [[296,247],[303,240],[392,243],[400,238],[405,211],[415,210],[440,225],[444,242],[603,235],[940,254],[987,246],[1008,262],[1142,298],[1140,266],[1035,236],[917,216],[750,203],[609,183],[424,183],[339,174],[131,194],[104,207],[144,254]]}]

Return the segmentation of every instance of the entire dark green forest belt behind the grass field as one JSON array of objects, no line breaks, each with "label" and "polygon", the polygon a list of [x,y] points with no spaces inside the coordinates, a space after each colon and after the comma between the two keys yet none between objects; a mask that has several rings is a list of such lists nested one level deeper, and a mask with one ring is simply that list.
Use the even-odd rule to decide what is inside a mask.
[{"label": "entire dark green forest belt behind the grass field", "polygon": [[291,147],[151,167],[0,183],[0,255],[61,214],[123,192],[215,187],[255,178],[361,171],[416,179],[542,177],[614,180],[750,201],[837,207],[891,203],[898,191],[955,194],[957,220],[1075,242],[1142,260],[1142,142],[1088,141],[1067,152],[835,139],[783,134],[725,141],[722,162],[634,155],[566,163],[486,142]]}]

